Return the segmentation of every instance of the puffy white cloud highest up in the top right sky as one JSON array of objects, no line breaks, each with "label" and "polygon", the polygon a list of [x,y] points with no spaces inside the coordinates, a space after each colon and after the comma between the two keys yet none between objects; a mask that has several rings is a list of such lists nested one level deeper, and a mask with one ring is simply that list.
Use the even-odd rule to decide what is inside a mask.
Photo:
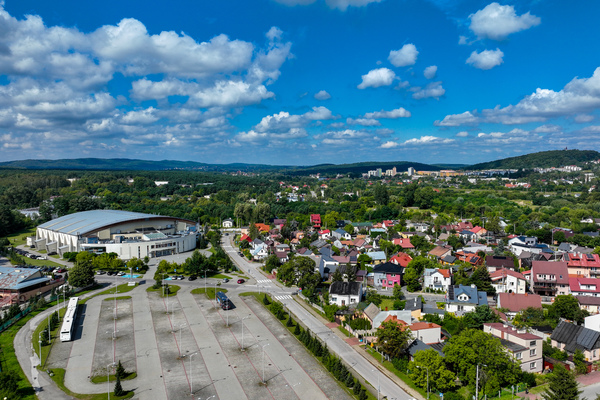
[{"label": "puffy white cloud highest up in the top right sky", "polygon": [[501,6],[494,2],[469,15],[470,28],[478,37],[502,40],[511,33],[539,25],[541,19],[529,12],[518,16],[513,6]]}]

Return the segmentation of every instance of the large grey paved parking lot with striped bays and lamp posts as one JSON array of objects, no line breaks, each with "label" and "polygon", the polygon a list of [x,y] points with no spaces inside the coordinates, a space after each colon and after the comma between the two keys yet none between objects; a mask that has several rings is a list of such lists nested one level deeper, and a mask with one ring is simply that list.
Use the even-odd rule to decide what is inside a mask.
[{"label": "large grey paved parking lot with striped bays and lamp posts", "polygon": [[222,310],[192,294],[194,286],[202,285],[182,285],[169,298],[142,285],[116,302],[88,300],[75,340],[56,342],[46,367],[65,368],[65,385],[76,393],[112,390],[91,378],[114,374],[120,360],[137,373],[122,381],[136,399],[351,398],[254,297],[230,291],[235,308]]}]

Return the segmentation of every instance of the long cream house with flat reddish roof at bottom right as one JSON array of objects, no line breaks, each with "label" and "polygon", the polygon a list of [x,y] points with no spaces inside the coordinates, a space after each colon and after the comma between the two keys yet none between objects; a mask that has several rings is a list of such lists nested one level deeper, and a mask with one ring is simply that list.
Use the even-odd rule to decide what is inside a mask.
[{"label": "long cream house with flat reddish roof at bottom right", "polygon": [[513,359],[521,362],[523,371],[542,372],[544,370],[543,339],[540,336],[499,322],[483,324],[483,331],[499,338],[500,343],[513,356]]}]

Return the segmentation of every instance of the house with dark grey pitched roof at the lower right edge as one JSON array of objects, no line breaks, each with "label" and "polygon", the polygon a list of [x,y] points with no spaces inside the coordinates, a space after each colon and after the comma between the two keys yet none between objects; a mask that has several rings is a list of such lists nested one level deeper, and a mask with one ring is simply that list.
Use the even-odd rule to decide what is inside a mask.
[{"label": "house with dark grey pitched roof at the lower right edge", "polygon": [[552,347],[564,350],[569,355],[575,354],[576,350],[581,350],[586,361],[600,360],[600,332],[598,331],[561,321],[552,332],[550,340]]}]

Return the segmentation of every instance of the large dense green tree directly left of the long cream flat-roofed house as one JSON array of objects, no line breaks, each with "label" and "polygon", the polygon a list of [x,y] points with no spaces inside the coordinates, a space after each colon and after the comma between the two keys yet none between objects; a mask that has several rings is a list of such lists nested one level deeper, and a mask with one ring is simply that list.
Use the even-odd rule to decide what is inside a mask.
[{"label": "large dense green tree directly left of the long cream flat-roofed house", "polygon": [[444,354],[450,369],[472,393],[477,365],[481,368],[481,395],[498,393],[500,387],[516,384],[521,376],[521,368],[506,353],[500,339],[480,330],[465,329],[452,336]]}]

